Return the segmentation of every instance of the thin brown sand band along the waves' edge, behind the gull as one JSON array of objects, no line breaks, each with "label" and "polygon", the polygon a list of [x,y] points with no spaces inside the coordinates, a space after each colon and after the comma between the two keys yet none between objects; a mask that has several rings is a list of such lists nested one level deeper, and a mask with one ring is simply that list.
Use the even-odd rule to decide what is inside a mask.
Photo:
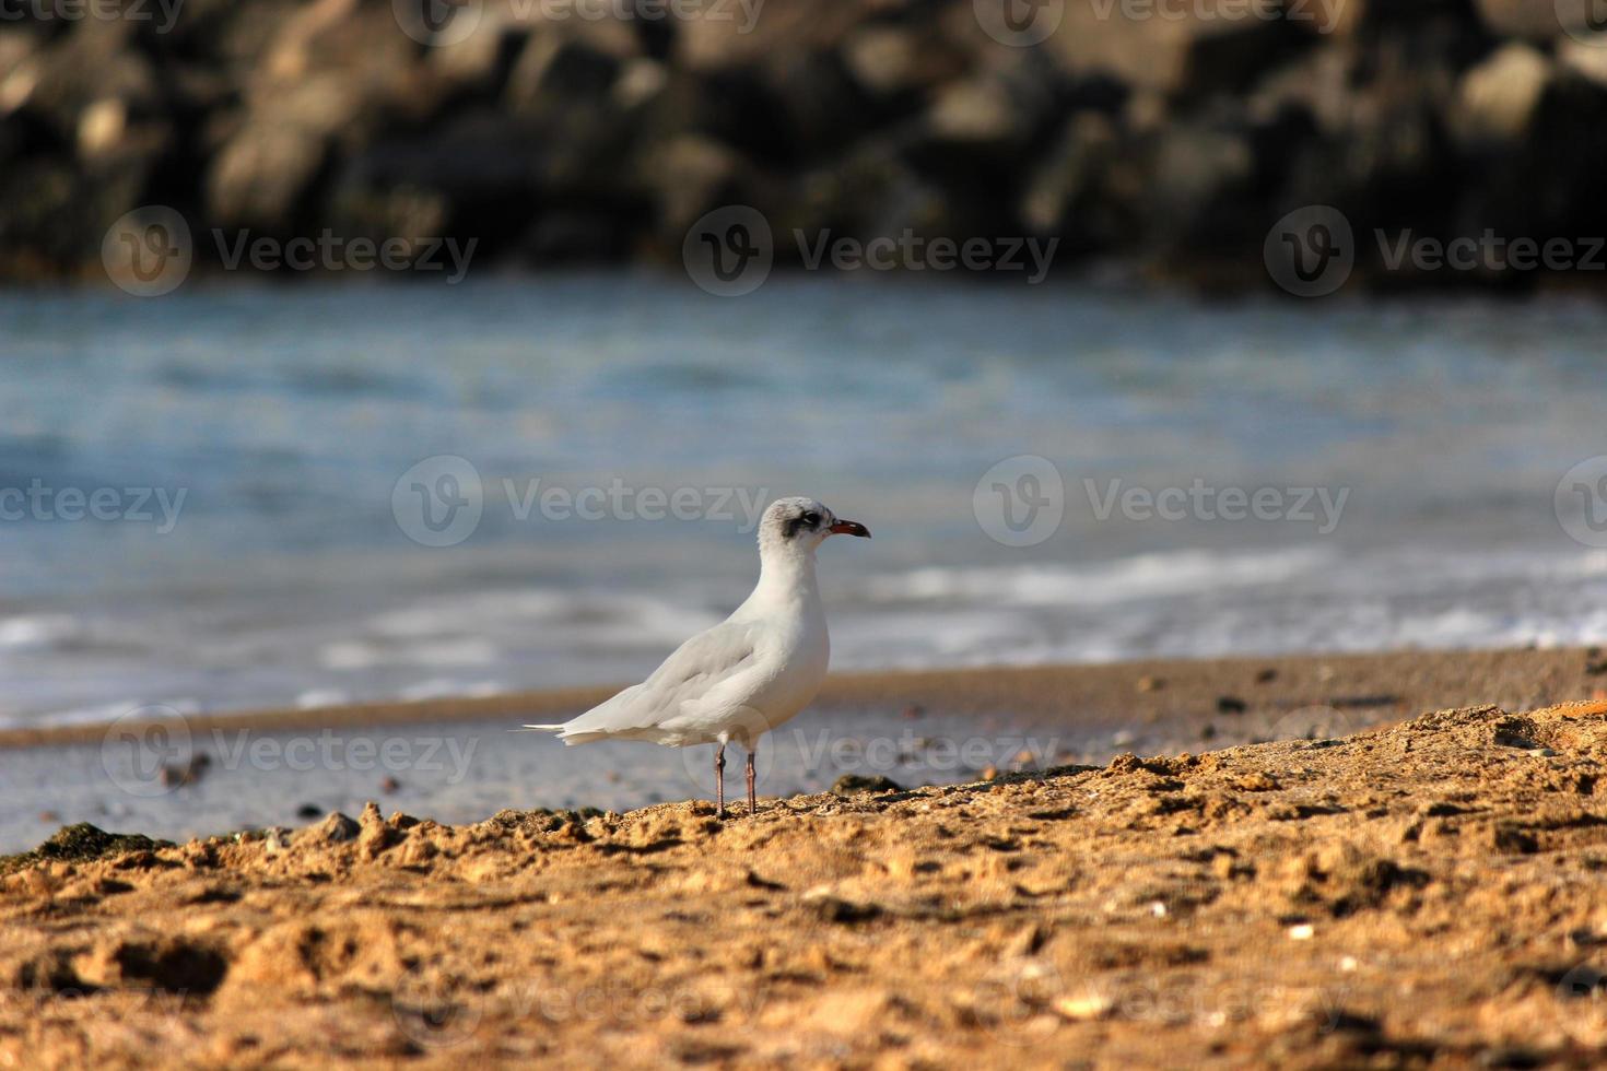
[{"label": "thin brown sand band along the waves' edge, behind the gull", "polygon": [[[1596,673],[1591,673],[1593,666]],[[185,715],[183,721],[193,731],[264,732],[469,724],[500,718],[514,723],[521,718],[577,715],[622,687],[625,684],[490,697],[259,708]],[[834,673],[800,718],[812,711],[892,705],[956,716],[1008,711],[1040,724],[1104,719],[1154,724],[1329,707],[1358,711],[1377,724],[1380,719],[1371,715],[1384,710],[1398,711],[1400,718],[1421,710],[1486,702],[1507,710],[1533,710],[1593,698],[1597,690],[1607,697],[1607,663],[1597,647],[1236,655]],[[1242,710],[1223,710],[1221,700],[1239,700]],[[0,750],[98,743],[112,724],[0,729]]]}]

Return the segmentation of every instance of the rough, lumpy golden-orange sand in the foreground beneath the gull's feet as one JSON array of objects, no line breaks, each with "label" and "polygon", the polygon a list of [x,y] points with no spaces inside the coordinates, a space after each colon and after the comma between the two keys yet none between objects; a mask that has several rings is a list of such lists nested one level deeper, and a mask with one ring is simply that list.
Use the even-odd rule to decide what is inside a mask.
[{"label": "rough, lumpy golden-orange sand in the foreground beneath the gull's feet", "polygon": [[[694,800],[463,825],[371,804],[182,845],[79,829],[0,864],[0,1063],[1591,1066],[1597,662],[850,678],[824,716],[1112,710],[1180,747],[725,822]],[[1384,727],[1220,747],[1313,703]]]}]

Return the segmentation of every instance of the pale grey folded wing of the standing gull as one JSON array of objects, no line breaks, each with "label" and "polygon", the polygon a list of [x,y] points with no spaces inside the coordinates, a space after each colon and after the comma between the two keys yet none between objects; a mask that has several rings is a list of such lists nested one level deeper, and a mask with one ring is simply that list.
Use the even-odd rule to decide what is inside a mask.
[{"label": "pale grey folded wing of the standing gull", "polygon": [[742,681],[762,676],[760,631],[754,621],[723,621],[693,636],[646,681],[564,723],[559,735],[566,743],[677,735],[678,731],[667,729],[669,724],[685,724],[709,707],[725,708],[730,705],[725,697],[739,703],[747,690]]}]

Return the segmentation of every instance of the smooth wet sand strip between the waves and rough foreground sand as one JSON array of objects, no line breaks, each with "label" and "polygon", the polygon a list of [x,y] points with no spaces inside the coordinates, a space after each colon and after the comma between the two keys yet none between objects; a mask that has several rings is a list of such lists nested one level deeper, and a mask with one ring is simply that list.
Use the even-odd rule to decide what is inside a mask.
[{"label": "smooth wet sand strip between the waves and rough foreground sand", "polygon": [[[1345,735],[1422,710],[1530,710],[1589,698],[1591,649],[1151,660],[844,674],[760,748],[759,788],[808,795],[844,776],[902,785]],[[1596,670],[1597,673],[1593,673]],[[368,800],[447,824],[505,808],[630,811],[712,798],[712,750],[566,748],[561,721],[609,694],[567,689],[323,710],[188,715],[143,726],[0,732],[0,854],[92,822],[167,840],[296,827]]]}]

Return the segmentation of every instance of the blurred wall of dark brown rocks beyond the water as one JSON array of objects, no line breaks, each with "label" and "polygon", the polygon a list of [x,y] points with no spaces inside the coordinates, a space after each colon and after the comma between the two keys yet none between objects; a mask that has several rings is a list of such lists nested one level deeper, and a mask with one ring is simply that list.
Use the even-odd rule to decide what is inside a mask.
[{"label": "blurred wall of dark brown rocks beyond the water", "polygon": [[146,204],[201,268],[212,228],[673,263],[725,204],[1221,287],[1268,286],[1268,228],[1310,204],[1358,234],[1607,234],[1593,0],[585,2],[0,0],[0,276],[98,273]]}]

